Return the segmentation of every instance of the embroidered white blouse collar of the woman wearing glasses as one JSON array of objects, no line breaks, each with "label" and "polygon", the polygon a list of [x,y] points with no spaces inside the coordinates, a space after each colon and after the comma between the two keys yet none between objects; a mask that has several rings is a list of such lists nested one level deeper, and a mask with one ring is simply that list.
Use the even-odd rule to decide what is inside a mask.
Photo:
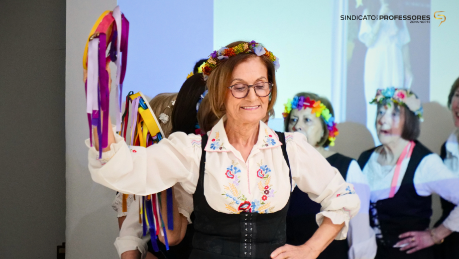
[{"label": "embroidered white blouse collar of the woman wearing glasses", "polygon": [[[224,116],[220,121],[212,128],[209,133],[209,141],[204,150],[209,152],[233,152],[236,156],[240,153],[234,147],[229,144],[228,136],[225,131],[224,122],[226,121],[226,116]],[[259,149],[273,148],[282,145],[279,141],[279,137],[272,129],[270,129],[266,124],[260,121],[260,127],[258,131],[258,139],[253,146],[252,153],[258,152]],[[250,156],[249,156],[250,157]]]}]

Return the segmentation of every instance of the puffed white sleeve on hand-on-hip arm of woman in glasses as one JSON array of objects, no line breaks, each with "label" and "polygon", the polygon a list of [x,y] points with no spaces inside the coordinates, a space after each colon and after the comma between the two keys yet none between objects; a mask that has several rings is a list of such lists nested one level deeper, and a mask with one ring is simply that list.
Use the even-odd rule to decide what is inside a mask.
[{"label": "puffed white sleeve on hand-on-hip arm of woman in glasses", "polygon": [[345,239],[349,220],[360,208],[354,187],[344,181],[340,172],[308,143],[303,134],[286,133],[286,140],[294,182],[311,200],[322,206],[316,215],[317,224],[320,226],[324,217],[331,219],[333,224],[344,223],[336,239]]}]

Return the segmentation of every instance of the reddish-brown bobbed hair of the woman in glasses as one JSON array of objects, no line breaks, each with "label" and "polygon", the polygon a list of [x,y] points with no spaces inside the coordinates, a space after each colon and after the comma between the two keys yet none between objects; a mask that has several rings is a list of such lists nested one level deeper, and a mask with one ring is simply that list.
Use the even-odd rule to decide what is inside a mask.
[{"label": "reddish-brown bobbed hair of the woman in glasses", "polygon": [[[236,41],[229,45],[227,48],[234,47],[236,45],[248,43],[246,41]],[[234,57],[230,57],[225,62],[220,63],[209,75],[207,80],[207,87],[209,89],[209,103],[212,111],[217,118],[222,118],[226,114],[225,110],[225,96],[228,91],[229,84],[231,82],[232,71],[234,68],[250,58],[260,58],[261,62],[266,66],[268,70],[268,81],[273,84],[271,94],[269,95],[268,111],[274,107],[277,98],[277,85],[274,65],[266,56],[257,56],[255,53],[242,53],[237,54]]]}]

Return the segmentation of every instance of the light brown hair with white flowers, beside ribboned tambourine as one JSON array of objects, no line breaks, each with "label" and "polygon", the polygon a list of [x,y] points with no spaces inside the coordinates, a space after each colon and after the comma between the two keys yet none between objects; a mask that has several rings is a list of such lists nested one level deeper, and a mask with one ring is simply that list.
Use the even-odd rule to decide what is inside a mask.
[{"label": "light brown hair with white flowers, beside ribboned tambourine", "polygon": [[[153,110],[153,113],[156,116],[156,119],[158,119],[159,126],[161,126],[161,129],[163,129],[164,132],[164,137],[168,137],[169,134],[171,133],[172,129],[172,122],[171,122],[171,116],[172,116],[172,102],[177,99],[177,93],[162,93],[158,94],[155,96],[153,99],[150,101],[150,107],[151,110]],[[165,114],[169,116],[169,121],[166,123],[163,123],[161,120],[159,120],[159,116],[161,114]]]}]

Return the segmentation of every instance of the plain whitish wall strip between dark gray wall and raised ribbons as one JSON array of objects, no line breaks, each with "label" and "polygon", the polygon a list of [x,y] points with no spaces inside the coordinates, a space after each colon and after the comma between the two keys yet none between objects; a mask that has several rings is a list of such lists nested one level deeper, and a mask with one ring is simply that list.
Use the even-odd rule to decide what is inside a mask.
[{"label": "plain whitish wall strip between dark gray wall and raised ribbons", "polygon": [[118,224],[110,206],[115,191],[93,182],[88,171],[88,149],[83,141],[89,137],[89,129],[82,66],[85,39],[94,22],[115,6],[116,0],[67,0],[66,259],[118,257],[113,245]]}]

